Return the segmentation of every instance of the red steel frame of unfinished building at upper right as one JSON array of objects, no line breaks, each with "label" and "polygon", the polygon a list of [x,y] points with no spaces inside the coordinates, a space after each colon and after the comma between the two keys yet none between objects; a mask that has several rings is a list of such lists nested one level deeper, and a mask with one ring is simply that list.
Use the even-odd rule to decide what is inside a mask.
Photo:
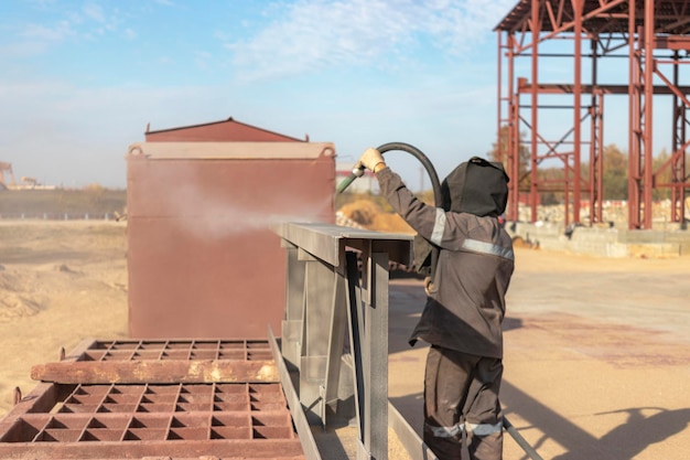
[{"label": "red steel frame of unfinished building at upper right", "polygon": [[[628,227],[649,229],[653,221],[653,191],[669,188],[673,223],[684,224],[684,199],[690,194],[687,169],[689,86],[681,85],[681,67],[690,56],[690,2],[687,0],[520,0],[495,28],[498,33],[498,133],[508,127],[507,142],[497,142],[500,158],[514,180],[510,182],[508,220],[517,220],[520,193],[527,197],[531,222],[537,220],[539,193],[559,191],[564,195],[565,225],[579,224],[589,197],[589,222],[603,218],[604,96],[627,95],[628,99]],[[572,51],[545,52],[553,43],[572,42]],[[560,42],[557,42],[560,41]],[[590,51],[585,52],[584,44]],[[627,50],[627,52],[626,52]],[[517,77],[516,61],[529,58],[529,79]],[[540,75],[546,60],[572,60],[572,82],[545,83]],[[603,84],[603,58],[627,60],[625,84]],[[585,64],[591,69],[584,78]],[[686,67],[687,68],[687,67]],[[589,99],[587,99],[589,96]],[[672,152],[654,170],[654,104],[658,96],[671,96]],[[557,100],[558,103],[553,103]],[[562,103],[564,100],[565,103]],[[572,116],[562,135],[547,133],[556,121],[545,114]],[[547,129],[548,128],[548,129]],[[671,129],[672,128],[672,129]],[[529,164],[519,158],[521,136],[529,132]],[[551,137],[553,136],[553,137]],[[589,170],[582,171],[583,159]],[[538,174],[540,164],[562,164],[562,180],[549,181]],[[670,182],[659,178],[670,171]],[[529,175],[529,189],[520,179]]]}]

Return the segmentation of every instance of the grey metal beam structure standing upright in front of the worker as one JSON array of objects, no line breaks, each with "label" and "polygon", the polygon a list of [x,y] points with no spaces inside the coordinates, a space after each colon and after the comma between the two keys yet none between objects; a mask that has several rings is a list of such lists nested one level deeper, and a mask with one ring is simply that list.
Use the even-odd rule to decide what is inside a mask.
[{"label": "grey metal beam structure standing upright in front of the worker", "polygon": [[[346,400],[354,402],[357,460],[385,460],[388,264],[409,264],[412,238],[325,224],[284,224],[278,234],[288,252],[282,356],[300,388],[301,407],[291,410],[304,410],[311,425],[325,427],[330,414],[351,411]],[[399,416],[391,424],[405,425]],[[412,443],[418,454],[410,454],[421,458],[421,439]]]}]

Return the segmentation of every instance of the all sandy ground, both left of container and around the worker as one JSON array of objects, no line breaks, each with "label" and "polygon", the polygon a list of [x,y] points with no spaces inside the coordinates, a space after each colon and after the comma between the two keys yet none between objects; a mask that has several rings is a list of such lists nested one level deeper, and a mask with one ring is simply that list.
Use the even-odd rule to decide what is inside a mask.
[{"label": "all sandy ground, both left of container and around the worker", "polygon": [[[35,385],[31,367],[61,347],[127,338],[126,231],[112,221],[0,222],[0,416],[14,387]],[[688,256],[516,248],[502,400],[543,459],[688,458]],[[418,430],[427,350],[407,338],[423,303],[420,280],[391,281],[389,396]],[[504,450],[527,458],[508,436]]]}]

